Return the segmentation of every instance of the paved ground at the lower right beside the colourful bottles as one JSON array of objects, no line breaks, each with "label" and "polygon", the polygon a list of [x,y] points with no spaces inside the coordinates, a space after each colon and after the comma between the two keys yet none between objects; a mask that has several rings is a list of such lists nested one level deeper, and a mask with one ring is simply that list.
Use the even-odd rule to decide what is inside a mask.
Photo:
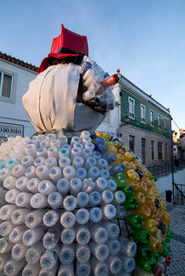
[{"label": "paved ground at the lower right beside the colourful bottles", "polygon": [[171,266],[167,276],[185,276],[185,206],[167,205],[171,213],[171,228],[174,237],[171,240]]}]

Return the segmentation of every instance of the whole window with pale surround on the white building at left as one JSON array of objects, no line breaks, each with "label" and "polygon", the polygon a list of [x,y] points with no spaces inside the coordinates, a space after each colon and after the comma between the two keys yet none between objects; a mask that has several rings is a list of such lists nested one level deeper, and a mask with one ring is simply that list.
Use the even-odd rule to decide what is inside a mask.
[{"label": "whole window with pale surround on the white building at left", "polygon": [[17,74],[0,68],[0,101],[15,103]]}]

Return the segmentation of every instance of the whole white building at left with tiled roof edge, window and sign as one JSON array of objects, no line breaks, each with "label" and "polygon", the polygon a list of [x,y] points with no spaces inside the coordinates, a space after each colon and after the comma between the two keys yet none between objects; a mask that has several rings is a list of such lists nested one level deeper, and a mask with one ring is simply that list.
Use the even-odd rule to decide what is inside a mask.
[{"label": "whole white building at left with tiled roof edge, window and sign", "polygon": [[37,67],[0,52],[0,139],[36,132],[23,108],[22,97]]}]

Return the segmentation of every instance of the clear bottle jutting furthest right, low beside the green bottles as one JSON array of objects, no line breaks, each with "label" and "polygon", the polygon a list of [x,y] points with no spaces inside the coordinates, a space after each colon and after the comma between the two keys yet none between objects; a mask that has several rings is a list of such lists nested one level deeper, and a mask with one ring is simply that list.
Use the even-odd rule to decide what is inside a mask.
[{"label": "clear bottle jutting furthest right, low beside the green bottles", "polygon": [[120,253],[133,258],[137,251],[137,245],[135,242],[126,239],[125,237],[119,237],[119,243],[121,244]]}]

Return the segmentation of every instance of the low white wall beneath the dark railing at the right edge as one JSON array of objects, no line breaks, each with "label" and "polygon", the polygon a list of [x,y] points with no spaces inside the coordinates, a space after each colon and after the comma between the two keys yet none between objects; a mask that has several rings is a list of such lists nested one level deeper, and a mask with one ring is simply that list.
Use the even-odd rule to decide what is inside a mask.
[{"label": "low white wall beneath the dark railing at the right edge", "polygon": [[[179,170],[174,173],[175,184],[185,184],[185,170]],[[166,199],[166,190],[173,190],[172,188],[172,175],[166,177],[160,177],[156,182],[157,188],[161,193],[162,197]],[[185,191],[185,188],[184,188]]]}]

